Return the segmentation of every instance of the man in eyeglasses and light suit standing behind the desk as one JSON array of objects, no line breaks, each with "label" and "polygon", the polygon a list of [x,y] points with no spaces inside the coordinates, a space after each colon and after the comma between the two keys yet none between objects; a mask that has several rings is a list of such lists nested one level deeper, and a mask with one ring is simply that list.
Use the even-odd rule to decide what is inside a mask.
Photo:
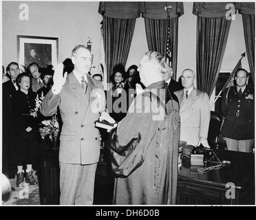
[{"label": "man in eyeglasses and light suit standing behind the desk", "polygon": [[180,102],[180,140],[210,148],[207,141],[211,118],[209,96],[195,89],[192,69],[184,69],[181,79],[184,89],[174,92]]}]

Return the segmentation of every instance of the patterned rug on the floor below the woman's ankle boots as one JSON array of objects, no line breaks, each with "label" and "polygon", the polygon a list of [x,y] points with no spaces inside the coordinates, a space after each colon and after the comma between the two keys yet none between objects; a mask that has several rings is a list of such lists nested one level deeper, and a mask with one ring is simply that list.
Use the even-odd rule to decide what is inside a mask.
[{"label": "patterned rug on the floor below the woman's ankle boots", "polygon": [[[34,173],[36,171],[34,170]],[[38,177],[34,175],[34,179],[38,181]],[[11,186],[15,189],[12,192],[10,199],[3,204],[3,206],[39,206],[39,185],[36,184],[31,186],[30,184],[24,182],[21,187],[16,186],[16,177],[14,179],[9,179]]]}]

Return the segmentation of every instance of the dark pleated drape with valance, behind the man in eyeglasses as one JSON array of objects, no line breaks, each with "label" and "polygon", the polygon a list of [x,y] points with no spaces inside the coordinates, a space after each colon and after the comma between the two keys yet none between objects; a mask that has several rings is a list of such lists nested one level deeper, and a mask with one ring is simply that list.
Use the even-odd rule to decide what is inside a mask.
[{"label": "dark pleated drape with valance, behind the man in eyeglasses", "polygon": [[226,4],[193,3],[197,20],[196,72],[198,89],[213,93],[226,49],[231,19],[226,19]]}]

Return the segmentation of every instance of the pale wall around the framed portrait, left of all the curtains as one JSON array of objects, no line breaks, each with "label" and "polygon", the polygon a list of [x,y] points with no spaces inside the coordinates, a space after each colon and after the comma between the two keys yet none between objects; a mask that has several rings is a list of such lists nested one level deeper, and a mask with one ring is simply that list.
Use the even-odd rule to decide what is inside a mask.
[{"label": "pale wall around the framed portrait, left of all the curtains", "polygon": [[[28,4],[28,21],[19,19],[21,3]],[[74,46],[86,45],[87,37],[91,36],[93,65],[98,63],[102,21],[98,2],[3,1],[2,12],[4,67],[17,61],[17,35],[57,37],[58,62],[70,58]]]}]

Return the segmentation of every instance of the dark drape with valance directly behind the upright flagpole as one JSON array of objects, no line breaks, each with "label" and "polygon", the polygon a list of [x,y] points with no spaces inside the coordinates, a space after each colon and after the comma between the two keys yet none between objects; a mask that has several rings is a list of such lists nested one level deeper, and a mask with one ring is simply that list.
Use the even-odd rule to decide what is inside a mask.
[{"label": "dark drape with valance directly behind the upright flagpole", "polygon": [[[170,12],[167,13],[166,7]],[[172,78],[176,79],[178,57],[178,17],[183,13],[182,2],[145,2],[140,11],[145,18],[147,45],[149,50],[165,55],[167,51],[167,38],[170,38],[169,50],[171,51],[170,64],[173,68]],[[169,22],[168,22],[169,19]],[[168,27],[169,25],[169,27]],[[167,30],[169,28],[169,36]]]}]

